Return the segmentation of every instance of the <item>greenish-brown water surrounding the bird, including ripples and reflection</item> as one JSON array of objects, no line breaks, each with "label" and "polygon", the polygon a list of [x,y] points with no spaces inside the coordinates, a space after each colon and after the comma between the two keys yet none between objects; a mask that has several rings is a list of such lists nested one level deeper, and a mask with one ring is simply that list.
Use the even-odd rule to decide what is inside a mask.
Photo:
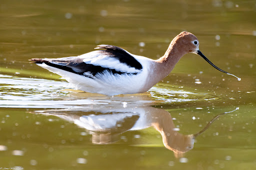
[{"label": "greenish-brown water surrounding the bird, including ripples and reflection", "polygon": [[[1,0],[0,169],[256,169],[256,2]],[[30,58],[98,44],[157,59],[181,31],[185,55],[147,93],[74,91]]]}]

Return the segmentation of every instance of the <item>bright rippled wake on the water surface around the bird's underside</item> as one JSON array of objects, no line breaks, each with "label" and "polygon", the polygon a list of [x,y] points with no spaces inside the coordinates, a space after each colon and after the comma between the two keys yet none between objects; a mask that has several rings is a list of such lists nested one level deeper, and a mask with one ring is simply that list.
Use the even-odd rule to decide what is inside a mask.
[{"label": "bright rippled wake on the water surface around the bird's underside", "polygon": [[214,100],[217,96],[153,87],[149,92],[104,96],[74,90],[69,83],[0,75],[0,107],[81,108],[88,105],[152,105],[152,103]]}]

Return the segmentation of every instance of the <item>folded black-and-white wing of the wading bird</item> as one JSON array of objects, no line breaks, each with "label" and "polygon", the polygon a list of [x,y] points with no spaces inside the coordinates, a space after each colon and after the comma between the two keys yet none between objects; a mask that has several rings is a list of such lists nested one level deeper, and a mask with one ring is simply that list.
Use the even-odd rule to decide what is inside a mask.
[{"label": "folded black-and-white wing of the wading bird", "polygon": [[137,74],[142,71],[142,65],[124,49],[113,45],[98,45],[92,51],[77,57],[64,58],[33,58],[36,64],[46,64],[71,73],[89,78],[103,74]]}]

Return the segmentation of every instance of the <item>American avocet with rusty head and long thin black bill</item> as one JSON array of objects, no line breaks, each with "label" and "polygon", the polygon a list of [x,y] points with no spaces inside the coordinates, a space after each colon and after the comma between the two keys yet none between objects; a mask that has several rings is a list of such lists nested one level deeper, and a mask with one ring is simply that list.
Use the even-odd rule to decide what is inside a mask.
[{"label": "American avocet with rusty head and long thin black bill", "polygon": [[158,60],[134,55],[113,45],[98,45],[95,49],[101,50],[75,57],[32,58],[30,61],[62,76],[78,90],[109,96],[149,90],[166,77],[186,53],[198,54],[217,70],[229,74],[199,51],[198,39],[189,32],[178,34]]}]

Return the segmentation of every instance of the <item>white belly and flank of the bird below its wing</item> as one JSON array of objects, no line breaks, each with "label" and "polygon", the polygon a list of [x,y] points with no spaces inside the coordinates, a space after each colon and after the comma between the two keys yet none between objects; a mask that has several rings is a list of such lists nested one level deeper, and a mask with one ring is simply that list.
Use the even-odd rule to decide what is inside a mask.
[{"label": "white belly and flank of the bird below its wing", "polygon": [[37,64],[53,73],[56,73],[70,82],[77,90],[90,93],[100,93],[108,96],[118,94],[142,93],[147,77],[147,70],[137,74],[111,74],[107,71],[89,78],[68,71],[64,71],[46,64]]}]

